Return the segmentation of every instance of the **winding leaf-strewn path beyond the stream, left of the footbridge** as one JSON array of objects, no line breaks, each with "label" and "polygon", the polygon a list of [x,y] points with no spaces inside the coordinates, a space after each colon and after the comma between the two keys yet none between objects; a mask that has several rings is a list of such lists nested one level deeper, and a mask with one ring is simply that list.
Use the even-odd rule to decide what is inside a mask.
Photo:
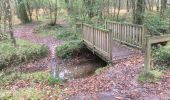
[{"label": "winding leaf-strewn path beyond the stream, left of the footbridge", "polygon": [[[48,36],[48,37],[38,36],[36,33],[34,33],[35,27],[36,24],[27,24],[27,25],[22,25],[20,27],[17,27],[14,30],[14,36],[16,38],[29,40],[36,44],[46,45],[49,48],[48,57],[40,61],[35,61],[33,63],[23,65],[24,67],[20,67],[22,68],[23,71],[27,71],[27,72],[48,69],[51,64],[51,59],[55,58],[55,48],[63,43],[62,41],[56,40],[52,36]],[[60,63],[59,59],[57,59],[56,62]]]}]

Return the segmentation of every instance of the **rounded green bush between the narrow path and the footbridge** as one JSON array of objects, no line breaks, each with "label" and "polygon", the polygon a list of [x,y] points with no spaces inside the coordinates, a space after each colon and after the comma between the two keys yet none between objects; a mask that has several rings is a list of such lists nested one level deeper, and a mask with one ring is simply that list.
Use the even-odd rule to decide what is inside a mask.
[{"label": "rounded green bush between the narrow path and the footbridge", "polygon": [[81,40],[74,40],[67,42],[56,48],[56,55],[60,58],[70,58],[75,54],[80,53],[83,48],[83,43]]}]

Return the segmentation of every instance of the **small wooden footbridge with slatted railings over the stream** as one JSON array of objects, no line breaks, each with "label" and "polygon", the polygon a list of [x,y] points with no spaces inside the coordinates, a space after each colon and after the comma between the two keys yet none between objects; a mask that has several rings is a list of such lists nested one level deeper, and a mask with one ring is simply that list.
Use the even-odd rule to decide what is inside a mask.
[{"label": "small wooden footbridge with slatted railings over the stream", "polygon": [[106,21],[105,29],[82,24],[85,45],[100,58],[112,62],[143,50],[145,29],[141,25]]}]

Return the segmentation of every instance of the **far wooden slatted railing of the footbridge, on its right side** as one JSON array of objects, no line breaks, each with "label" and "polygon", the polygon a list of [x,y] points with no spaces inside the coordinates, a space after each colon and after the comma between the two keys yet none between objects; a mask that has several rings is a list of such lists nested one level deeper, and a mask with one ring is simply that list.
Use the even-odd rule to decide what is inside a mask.
[{"label": "far wooden slatted railing of the footbridge, on its right side", "polygon": [[144,26],[106,21],[106,29],[112,30],[114,40],[143,49],[145,44]]}]

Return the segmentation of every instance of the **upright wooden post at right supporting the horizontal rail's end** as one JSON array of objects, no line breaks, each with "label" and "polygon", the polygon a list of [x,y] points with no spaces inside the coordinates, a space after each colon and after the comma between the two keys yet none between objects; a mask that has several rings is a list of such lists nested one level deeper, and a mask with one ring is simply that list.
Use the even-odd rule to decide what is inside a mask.
[{"label": "upright wooden post at right supporting the horizontal rail's end", "polygon": [[150,36],[146,37],[146,51],[145,51],[145,73],[150,71],[150,64],[151,64],[151,42]]}]

